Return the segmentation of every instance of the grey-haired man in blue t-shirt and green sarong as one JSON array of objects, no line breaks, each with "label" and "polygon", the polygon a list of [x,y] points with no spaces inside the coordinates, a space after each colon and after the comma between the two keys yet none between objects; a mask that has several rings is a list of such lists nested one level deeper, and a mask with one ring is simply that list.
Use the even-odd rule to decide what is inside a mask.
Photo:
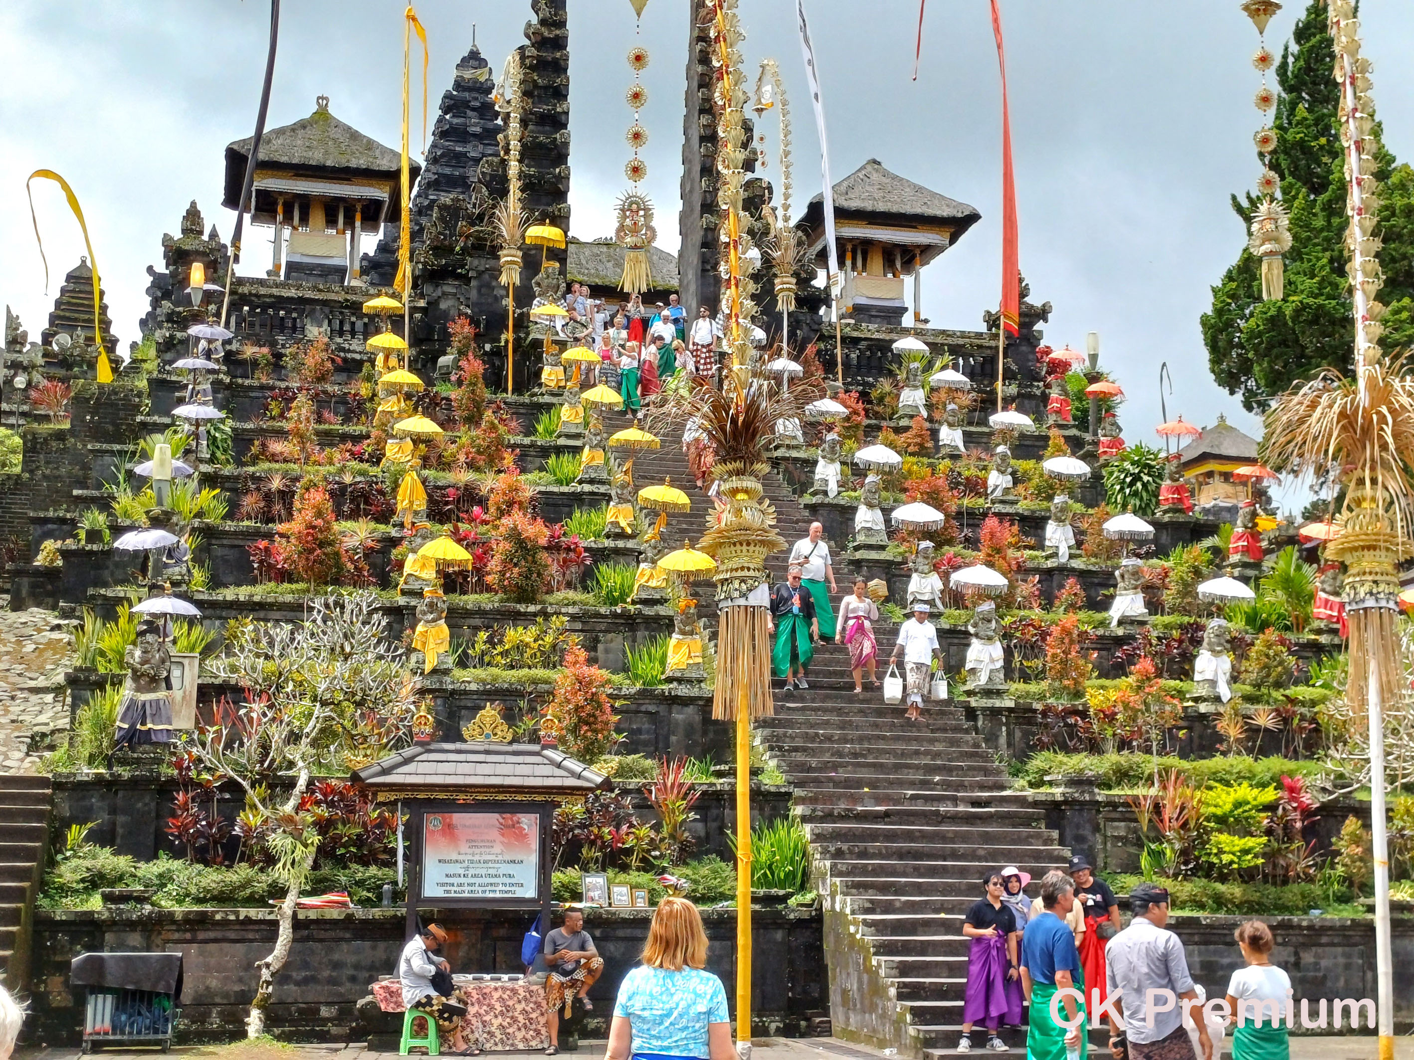
[{"label": "grey-haired man in blue t-shirt and green sarong", "polygon": [[[1075,989],[1080,975],[1080,951],[1075,947],[1075,933],[1062,917],[1075,905],[1075,881],[1060,869],[1052,869],[1041,881],[1041,916],[1027,921],[1021,936],[1021,988],[1031,1003],[1027,1033],[1027,1060],[1066,1060],[1068,1049],[1079,1047],[1085,1056],[1085,1003],[1065,994]],[[1058,1019],[1065,1006],[1065,1019],[1080,1023],[1068,1030]]]}]

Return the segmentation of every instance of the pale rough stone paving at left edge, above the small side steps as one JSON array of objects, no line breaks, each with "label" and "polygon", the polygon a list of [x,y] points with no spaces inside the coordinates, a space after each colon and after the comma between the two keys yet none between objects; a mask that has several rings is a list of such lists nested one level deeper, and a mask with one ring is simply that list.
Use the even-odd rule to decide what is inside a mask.
[{"label": "pale rough stone paving at left edge, above the small side steps", "polygon": [[11,612],[0,596],[0,773],[38,772],[40,749],[68,731],[64,671],[72,666],[72,625],[40,608]]}]

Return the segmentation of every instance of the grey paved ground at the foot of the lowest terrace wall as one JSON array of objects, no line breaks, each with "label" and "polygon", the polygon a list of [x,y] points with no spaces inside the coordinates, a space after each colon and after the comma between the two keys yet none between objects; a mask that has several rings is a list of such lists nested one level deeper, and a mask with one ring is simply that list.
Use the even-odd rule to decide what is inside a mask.
[{"label": "grey paved ground at the foot of the lowest terrace wall", "polygon": [[[1225,1042],[1223,1057],[1230,1056],[1232,1039]],[[977,1053],[974,1053],[976,1056]],[[1373,1036],[1348,1037],[1292,1037],[1291,1060],[1374,1060],[1377,1054]],[[157,1050],[143,1052],[102,1052],[99,1056],[112,1060],[143,1060],[158,1056]],[[329,1046],[297,1046],[288,1050],[262,1050],[236,1047],[177,1047],[171,1056],[181,1056],[185,1060],[396,1060],[397,1053],[370,1053],[361,1044],[329,1044]],[[421,1052],[414,1053],[421,1056]],[[540,1060],[536,1053],[486,1053],[495,1060]],[[604,1056],[602,1042],[581,1042],[577,1053],[561,1053],[561,1056],[583,1057],[583,1060],[600,1060]],[[877,1049],[855,1046],[833,1037],[758,1039],[752,1052],[755,1060],[885,1060],[885,1054]],[[1096,1053],[1092,1059],[1107,1060],[1109,1052]],[[1397,1037],[1394,1040],[1396,1060],[1414,1060],[1414,1039]],[[16,1060],[82,1060],[78,1049],[18,1049]],[[1215,1057],[1216,1060],[1216,1057]]]}]

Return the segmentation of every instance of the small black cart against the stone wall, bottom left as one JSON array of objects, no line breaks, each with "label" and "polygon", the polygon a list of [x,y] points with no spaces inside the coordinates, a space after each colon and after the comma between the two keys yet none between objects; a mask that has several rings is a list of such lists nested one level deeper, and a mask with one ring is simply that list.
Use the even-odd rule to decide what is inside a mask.
[{"label": "small black cart against the stone wall, bottom left", "polygon": [[171,1047],[181,1016],[180,953],[86,953],[69,965],[69,982],[88,991],[83,1052],[95,1046]]}]

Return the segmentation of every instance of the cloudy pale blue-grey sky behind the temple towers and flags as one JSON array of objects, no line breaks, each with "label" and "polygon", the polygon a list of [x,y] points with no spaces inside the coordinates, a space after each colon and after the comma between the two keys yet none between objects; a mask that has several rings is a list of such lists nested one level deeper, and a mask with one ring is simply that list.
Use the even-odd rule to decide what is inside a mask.
[{"label": "cloudy pale blue-grey sky behind the temple towers and flags", "polygon": [[[571,0],[573,235],[612,230],[628,157],[624,129],[633,40],[628,0]],[[332,112],[375,139],[399,137],[402,10],[397,0],[287,0],[270,126]],[[527,0],[421,0],[431,42],[431,117],[477,25],[499,69],[523,41]],[[1304,8],[1288,0],[1267,31],[1280,49]],[[980,326],[1000,276],[1000,92],[987,0],[929,0],[923,64],[909,79],[916,0],[807,0],[820,61],[830,164],[840,179],[867,158],[970,202],[983,219],[925,271],[935,325]],[[819,191],[819,141],[803,89],[793,0],[740,0],[754,79],[779,61],[795,117],[796,215]],[[1366,54],[1386,139],[1414,157],[1414,6],[1362,4]],[[1229,195],[1253,185],[1260,83],[1257,34],[1237,0],[1003,0],[1021,218],[1021,266],[1036,301],[1055,305],[1046,339],[1082,348],[1102,336],[1102,363],[1121,379],[1131,440],[1154,441],[1158,372],[1168,362],[1169,416],[1256,420],[1217,389],[1198,315],[1243,242]],[[33,335],[82,249],[58,189],[35,184],[49,253],[49,291],[30,230],[24,179],[45,167],[74,185],[89,219],[113,329],[123,349],[147,308],[148,263],[192,198],[229,236],[219,206],[226,143],[250,134],[264,61],[263,0],[7,0],[0,40],[0,187],[7,204],[0,298]],[[649,0],[642,40],[650,141],[648,191],[660,246],[676,252],[687,16],[683,0]],[[768,122],[768,126],[771,123]],[[768,134],[773,137],[775,129]],[[768,175],[775,172],[769,170]],[[246,239],[243,270],[269,264],[269,229]]]}]

